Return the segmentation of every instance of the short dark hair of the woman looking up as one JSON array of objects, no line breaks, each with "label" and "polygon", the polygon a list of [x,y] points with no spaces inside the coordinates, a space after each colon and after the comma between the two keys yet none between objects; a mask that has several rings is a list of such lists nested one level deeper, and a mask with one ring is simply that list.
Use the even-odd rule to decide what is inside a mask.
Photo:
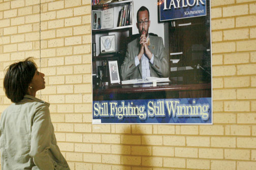
[{"label": "short dark hair of the woman looking up", "polygon": [[33,57],[28,57],[8,67],[4,78],[4,90],[13,103],[18,103],[24,98],[36,70],[37,65]]}]

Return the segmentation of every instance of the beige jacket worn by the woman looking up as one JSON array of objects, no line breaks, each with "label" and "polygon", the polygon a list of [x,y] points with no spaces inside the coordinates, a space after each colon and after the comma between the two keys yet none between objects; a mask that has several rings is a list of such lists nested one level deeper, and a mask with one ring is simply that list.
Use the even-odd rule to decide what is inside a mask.
[{"label": "beige jacket worn by the woman looking up", "polygon": [[0,152],[3,170],[69,170],[56,144],[49,103],[25,95],[1,115]]}]

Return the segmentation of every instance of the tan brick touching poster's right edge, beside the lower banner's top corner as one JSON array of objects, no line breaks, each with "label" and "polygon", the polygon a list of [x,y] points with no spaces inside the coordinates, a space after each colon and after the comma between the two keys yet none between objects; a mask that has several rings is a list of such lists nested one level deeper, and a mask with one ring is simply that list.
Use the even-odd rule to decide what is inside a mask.
[{"label": "tan brick touching poster's right edge, beside the lower banner's top corner", "polygon": [[213,90],[213,100],[231,100],[236,99],[236,90]]}]

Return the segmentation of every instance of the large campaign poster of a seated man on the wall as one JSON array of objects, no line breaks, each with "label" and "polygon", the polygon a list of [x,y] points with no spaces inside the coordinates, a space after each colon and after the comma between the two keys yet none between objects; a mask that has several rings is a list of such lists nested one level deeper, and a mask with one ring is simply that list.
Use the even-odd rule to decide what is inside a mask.
[{"label": "large campaign poster of a seated man on the wall", "polygon": [[[91,7],[114,22],[91,31],[92,123],[212,124],[210,0]],[[102,53],[109,35],[115,51]]]}]

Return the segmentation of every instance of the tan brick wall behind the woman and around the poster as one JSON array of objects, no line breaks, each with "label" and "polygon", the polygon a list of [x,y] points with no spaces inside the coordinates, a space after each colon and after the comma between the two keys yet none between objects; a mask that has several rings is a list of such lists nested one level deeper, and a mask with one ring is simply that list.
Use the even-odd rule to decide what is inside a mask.
[{"label": "tan brick wall behind the woman and around the poster", "polygon": [[4,68],[33,56],[71,169],[256,169],[256,2],[211,6],[213,125],[91,124],[89,0],[0,0],[0,113]]}]

